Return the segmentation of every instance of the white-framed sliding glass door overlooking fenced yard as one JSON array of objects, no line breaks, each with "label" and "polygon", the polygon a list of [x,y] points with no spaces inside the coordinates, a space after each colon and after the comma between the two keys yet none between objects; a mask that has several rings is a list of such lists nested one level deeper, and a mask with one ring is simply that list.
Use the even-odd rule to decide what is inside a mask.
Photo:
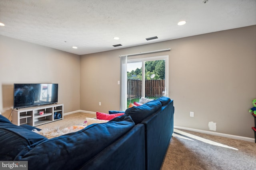
[{"label": "white-framed sliding glass door overlooking fenced yard", "polygon": [[168,56],[127,60],[127,107],[140,98],[168,96]]}]

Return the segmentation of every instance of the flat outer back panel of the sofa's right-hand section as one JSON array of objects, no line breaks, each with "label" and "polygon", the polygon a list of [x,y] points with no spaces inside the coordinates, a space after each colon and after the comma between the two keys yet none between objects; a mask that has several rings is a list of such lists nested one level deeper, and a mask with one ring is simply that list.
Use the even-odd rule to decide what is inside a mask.
[{"label": "flat outer back panel of the sofa's right-hand section", "polygon": [[160,169],[173,133],[173,101],[144,119],[146,140],[146,169]]}]

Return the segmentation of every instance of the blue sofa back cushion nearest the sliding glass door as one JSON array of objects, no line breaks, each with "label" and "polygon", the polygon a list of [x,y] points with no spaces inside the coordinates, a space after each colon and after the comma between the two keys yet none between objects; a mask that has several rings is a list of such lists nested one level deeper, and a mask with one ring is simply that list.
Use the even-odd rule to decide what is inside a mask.
[{"label": "blue sofa back cushion nearest the sliding glass door", "polygon": [[126,109],[125,114],[130,115],[135,124],[140,123],[143,119],[152,115],[162,107],[158,100],[152,100],[146,104]]}]

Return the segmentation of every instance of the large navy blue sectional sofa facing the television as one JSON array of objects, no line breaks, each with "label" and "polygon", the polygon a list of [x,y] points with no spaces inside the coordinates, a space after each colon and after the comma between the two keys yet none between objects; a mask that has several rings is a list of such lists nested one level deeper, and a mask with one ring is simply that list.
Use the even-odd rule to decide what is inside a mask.
[{"label": "large navy blue sectional sofa facing the television", "polygon": [[162,97],[107,123],[46,139],[0,115],[0,160],[34,170],[159,170],[173,133],[174,106]]}]

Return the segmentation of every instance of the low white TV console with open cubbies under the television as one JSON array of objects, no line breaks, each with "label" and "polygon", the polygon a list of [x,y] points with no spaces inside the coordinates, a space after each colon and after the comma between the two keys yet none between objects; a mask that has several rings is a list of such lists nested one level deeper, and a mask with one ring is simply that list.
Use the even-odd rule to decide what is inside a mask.
[{"label": "low white TV console with open cubbies under the television", "polygon": [[[38,126],[52,121],[64,119],[63,104],[50,104],[37,107],[26,107],[12,111],[12,123],[15,125],[28,124],[31,126]],[[40,115],[39,112],[43,111],[44,114]],[[60,119],[54,117],[54,113],[59,113]]]}]

